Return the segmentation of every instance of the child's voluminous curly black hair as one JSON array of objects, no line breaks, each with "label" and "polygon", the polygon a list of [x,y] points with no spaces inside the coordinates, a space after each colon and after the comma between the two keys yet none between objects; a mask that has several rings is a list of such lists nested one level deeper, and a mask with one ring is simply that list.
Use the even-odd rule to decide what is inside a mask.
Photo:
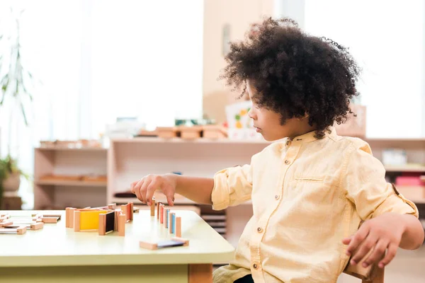
[{"label": "child's voluminous curly black hair", "polygon": [[321,139],[334,122],[346,122],[349,103],[358,96],[360,68],[348,50],[326,37],[307,35],[290,18],[266,18],[252,25],[246,40],[232,42],[220,79],[234,89],[246,80],[256,88],[260,107],[281,114],[281,124],[305,117]]}]

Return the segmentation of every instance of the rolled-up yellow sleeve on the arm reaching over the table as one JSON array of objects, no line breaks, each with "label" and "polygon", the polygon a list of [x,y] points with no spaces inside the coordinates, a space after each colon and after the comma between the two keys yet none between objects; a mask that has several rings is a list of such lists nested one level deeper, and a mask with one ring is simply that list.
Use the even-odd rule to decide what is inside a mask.
[{"label": "rolled-up yellow sleeve on the arm reaching over the table", "polygon": [[251,165],[235,166],[218,171],[214,175],[212,209],[221,210],[251,199]]}]

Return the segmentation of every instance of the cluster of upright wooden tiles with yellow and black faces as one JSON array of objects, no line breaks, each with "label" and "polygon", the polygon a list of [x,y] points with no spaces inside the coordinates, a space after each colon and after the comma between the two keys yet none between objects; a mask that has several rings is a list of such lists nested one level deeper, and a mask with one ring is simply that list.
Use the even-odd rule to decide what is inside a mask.
[{"label": "cluster of upright wooden tiles with yellow and black faces", "polygon": [[125,236],[125,223],[132,221],[133,213],[132,202],[121,205],[121,209],[116,209],[116,204],[84,209],[67,207],[66,226],[74,229],[75,232],[98,231],[99,235],[104,236],[118,231],[119,236]]}]

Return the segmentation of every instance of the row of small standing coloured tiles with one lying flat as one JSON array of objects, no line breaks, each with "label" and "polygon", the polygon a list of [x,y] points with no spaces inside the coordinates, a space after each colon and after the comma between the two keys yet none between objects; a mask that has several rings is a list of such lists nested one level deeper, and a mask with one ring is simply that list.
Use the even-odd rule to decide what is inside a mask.
[{"label": "row of small standing coloured tiles with one lying flat", "polygon": [[189,241],[181,238],[181,217],[176,216],[174,212],[170,212],[170,209],[165,208],[164,204],[161,202],[156,203],[155,198],[152,198],[150,207],[151,216],[155,216],[155,210],[157,212],[157,221],[159,221],[159,224],[163,224],[166,229],[169,229],[170,234],[175,234],[175,237],[172,237],[171,241],[160,241],[158,243],[140,241],[140,248],[157,250],[158,248],[188,246]]}]

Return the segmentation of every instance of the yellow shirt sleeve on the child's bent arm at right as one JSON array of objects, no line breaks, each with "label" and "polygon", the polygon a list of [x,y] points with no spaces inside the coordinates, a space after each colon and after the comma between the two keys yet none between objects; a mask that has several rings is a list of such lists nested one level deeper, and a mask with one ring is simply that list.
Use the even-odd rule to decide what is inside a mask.
[{"label": "yellow shirt sleeve on the child's bent arm at right", "polygon": [[384,166],[366,142],[353,144],[347,157],[342,183],[363,221],[386,212],[419,216],[416,205],[399,194],[395,185],[387,183]]}]

